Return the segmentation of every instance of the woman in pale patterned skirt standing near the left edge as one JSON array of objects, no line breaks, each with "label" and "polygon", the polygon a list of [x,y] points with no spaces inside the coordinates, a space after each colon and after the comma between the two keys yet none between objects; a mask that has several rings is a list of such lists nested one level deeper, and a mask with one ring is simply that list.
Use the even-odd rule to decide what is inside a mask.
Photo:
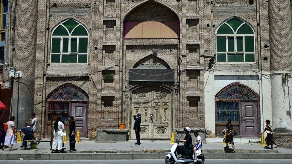
[{"label": "woman in pale patterned skirt standing near the left edge", "polygon": [[9,121],[7,122],[8,129],[7,129],[7,133],[5,136],[5,143],[2,150],[4,150],[5,145],[7,146],[10,145],[10,150],[13,150],[12,146],[13,144],[16,144],[16,131],[15,131],[14,122],[13,122],[14,120],[15,120],[15,117],[10,116]]}]

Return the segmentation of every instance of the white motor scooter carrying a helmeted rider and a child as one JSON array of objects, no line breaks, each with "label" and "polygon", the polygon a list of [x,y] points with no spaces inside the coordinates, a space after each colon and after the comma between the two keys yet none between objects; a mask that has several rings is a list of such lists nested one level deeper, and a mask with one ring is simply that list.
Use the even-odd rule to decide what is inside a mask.
[{"label": "white motor scooter carrying a helmeted rider and a child", "polygon": [[[178,159],[177,154],[176,154],[178,145],[179,145],[179,142],[177,139],[174,142],[174,145],[171,147],[169,154],[167,154],[165,157],[165,164],[174,164],[175,162],[176,163],[195,163],[195,164],[205,163],[205,157],[204,157],[203,151],[201,149],[197,150],[197,158],[198,158],[197,162],[194,162],[190,158],[183,159],[183,160]],[[194,158],[194,153],[193,153],[193,158]]]}]

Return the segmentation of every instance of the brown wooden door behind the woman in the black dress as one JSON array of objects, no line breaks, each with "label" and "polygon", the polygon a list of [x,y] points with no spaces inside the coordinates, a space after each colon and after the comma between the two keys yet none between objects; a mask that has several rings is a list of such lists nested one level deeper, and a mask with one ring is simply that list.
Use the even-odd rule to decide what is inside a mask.
[{"label": "brown wooden door behind the woman in the black dress", "polygon": [[71,115],[75,119],[76,131],[80,131],[80,137],[87,137],[87,103],[72,103]]}]

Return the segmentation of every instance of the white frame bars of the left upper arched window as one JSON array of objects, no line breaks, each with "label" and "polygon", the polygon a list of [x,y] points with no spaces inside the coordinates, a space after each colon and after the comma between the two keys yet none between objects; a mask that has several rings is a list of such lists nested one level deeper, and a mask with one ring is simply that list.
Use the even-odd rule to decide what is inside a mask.
[{"label": "white frame bars of the left upper arched window", "polygon": [[[78,62],[79,55],[87,55],[87,61],[86,61],[86,63],[88,63],[88,52],[89,52],[88,51],[88,47],[89,47],[88,30],[86,29],[85,26],[83,26],[83,24],[81,24],[81,23],[77,22],[76,20],[72,19],[73,21],[77,22],[79,25],[77,25],[76,27],[74,27],[73,30],[71,31],[71,33],[69,33],[69,30],[63,25],[63,23],[66,22],[66,21],[68,21],[68,20],[69,19],[61,22],[58,26],[56,26],[54,28],[54,30],[52,30],[52,33],[51,33],[51,50],[50,50],[51,55],[50,55],[50,63],[54,63],[54,62],[52,62],[52,55],[60,55],[60,62],[58,62],[59,64],[65,64],[65,63],[62,63],[62,55],[77,55],[77,62],[76,63],[79,63]],[[67,36],[53,36],[54,31],[59,26],[63,26],[66,29],[66,31],[68,32],[69,35],[67,35]],[[79,27],[79,26],[82,26],[86,30],[87,36],[75,36],[75,35],[72,35],[73,31],[77,27]],[[52,53],[52,40],[53,40],[53,38],[60,38],[61,39],[61,41],[60,41],[60,53]],[[63,53],[63,38],[69,38],[68,53],[67,52]],[[71,38],[77,38],[77,47],[76,47],[77,48],[76,49],[77,52],[74,52],[74,53],[71,53]],[[79,51],[79,38],[87,38],[87,53],[79,53],[78,52]],[[54,63],[54,64],[57,64],[57,63]],[[73,63],[71,63],[71,64],[73,64]],[[80,64],[83,64],[83,63],[80,63]]]}]

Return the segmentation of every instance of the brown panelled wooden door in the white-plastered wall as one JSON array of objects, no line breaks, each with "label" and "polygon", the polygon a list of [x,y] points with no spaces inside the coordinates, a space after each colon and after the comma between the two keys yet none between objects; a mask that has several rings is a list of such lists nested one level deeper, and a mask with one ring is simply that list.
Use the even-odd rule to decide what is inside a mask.
[{"label": "brown panelled wooden door in the white-plastered wall", "polygon": [[241,136],[258,137],[257,102],[241,102]]}]

